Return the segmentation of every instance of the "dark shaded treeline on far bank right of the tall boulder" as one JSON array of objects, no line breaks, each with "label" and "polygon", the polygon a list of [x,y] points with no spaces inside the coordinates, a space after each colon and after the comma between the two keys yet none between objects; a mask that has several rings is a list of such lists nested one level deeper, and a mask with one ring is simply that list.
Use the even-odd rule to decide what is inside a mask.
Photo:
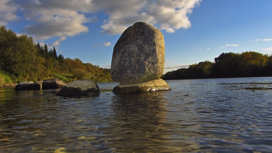
[{"label": "dark shaded treeline on far bank right of the tall boulder", "polygon": [[255,51],[222,53],[214,62],[203,61],[162,75],[164,80],[272,76],[272,55]]}]

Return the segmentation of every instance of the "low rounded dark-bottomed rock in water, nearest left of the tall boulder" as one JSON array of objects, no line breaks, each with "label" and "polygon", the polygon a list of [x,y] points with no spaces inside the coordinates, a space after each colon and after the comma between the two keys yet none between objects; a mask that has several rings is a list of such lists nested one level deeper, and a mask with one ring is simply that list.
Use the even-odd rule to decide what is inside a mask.
[{"label": "low rounded dark-bottomed rock in water, nearest left of the tall boulder", "polygon": [[76,80],[68,83],[57,96],[82,96],[100,93],[98,85],[91,80]]}]

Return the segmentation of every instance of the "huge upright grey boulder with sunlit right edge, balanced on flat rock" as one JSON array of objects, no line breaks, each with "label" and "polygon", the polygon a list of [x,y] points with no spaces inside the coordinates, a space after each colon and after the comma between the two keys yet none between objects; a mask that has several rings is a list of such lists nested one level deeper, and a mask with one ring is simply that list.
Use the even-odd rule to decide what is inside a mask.
[{"label": "huge upright grey boulder with sunlit right edge, balanced on flat rock", "polygon": [[164,71],[164,37],[153,26],[137,22],[113,48],[111,77],[122,84],[151,81]]}]

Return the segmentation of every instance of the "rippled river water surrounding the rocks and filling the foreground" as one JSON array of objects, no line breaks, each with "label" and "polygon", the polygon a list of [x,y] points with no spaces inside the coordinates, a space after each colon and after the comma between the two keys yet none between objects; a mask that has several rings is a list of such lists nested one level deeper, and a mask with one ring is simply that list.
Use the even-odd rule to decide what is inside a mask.
[{"label": "rippled river water surrounding the rocks and filling the foreground", "polygon": [[272,78],[94,97],[0,88],[0,152],[272,152]]}]

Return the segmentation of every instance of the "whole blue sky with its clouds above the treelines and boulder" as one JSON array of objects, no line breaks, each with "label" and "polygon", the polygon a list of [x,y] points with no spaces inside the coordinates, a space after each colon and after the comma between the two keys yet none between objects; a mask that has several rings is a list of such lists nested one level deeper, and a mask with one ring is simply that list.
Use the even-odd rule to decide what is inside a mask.
[{"label": "whole blue sky with its clouds above the treelines and boulder", "polygon": [[146,22],[164,35],[164,73],[222,53],[272,53],[271,0],[1,0],[0,24],[57,54],[110,68],[122,32]]}]

